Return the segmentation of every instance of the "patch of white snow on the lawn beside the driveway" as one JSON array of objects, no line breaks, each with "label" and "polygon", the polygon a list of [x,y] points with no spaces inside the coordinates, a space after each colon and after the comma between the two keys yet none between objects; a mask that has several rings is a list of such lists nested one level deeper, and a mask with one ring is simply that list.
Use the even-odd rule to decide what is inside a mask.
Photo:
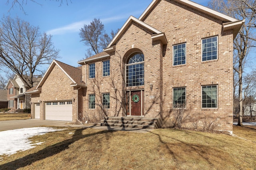
[{"label": "patch of white snow on the lawn beside the driveway", "polygon": [[[11,155],[18,151],[24,151],[36,147],[44,142],[36,141],[32,144],[29,138],[36,135],[43,135],[47,132],[61,131],[64,129],[56,129],[51,127],[32,127],[19,128],[15,130],[5,130],[0,132],[0,155]],[[0,157],[0,161],[4,158]]]}]

